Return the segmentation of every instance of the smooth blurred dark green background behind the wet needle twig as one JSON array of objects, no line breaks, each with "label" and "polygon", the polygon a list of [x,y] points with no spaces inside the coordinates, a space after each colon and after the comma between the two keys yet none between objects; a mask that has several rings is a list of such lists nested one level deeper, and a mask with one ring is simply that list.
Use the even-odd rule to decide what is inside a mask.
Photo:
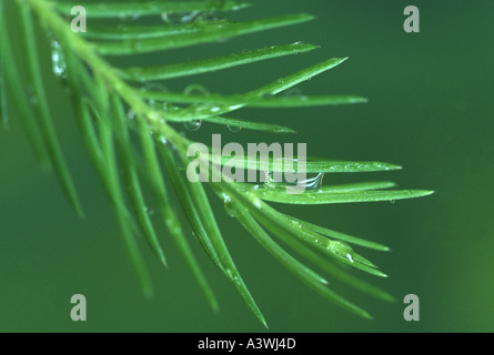
[{"label": "smooth blurred dark green background behind the wet needle twig", "polygon": [[[370,311],[361,320],[321,298],[280,266],[214,201],[231,253],[273,332],[493,332],[494,311],[494,3],[493,1],[270,0],[235,20],[308,12],[315,21],[242,37],[193,50],[163,52],[150,62],[205,58],[263,45],[305,41],[308,54],[276,59],[213,74],[172,80],[183,90],[199,82],[233,93],[254,89],[332,57],[350,60],[301,85],[308,94],[359,94],[367,104],[294,110],[245,110],[239,118],[294,128],[272,135],[205,124],[193,139],[308,142],[310,155],[396,163],[397,172],[326,175],[324,183],[392,180],[432,196],[397,203],[285,207],[282,211],[331,229],[373,240],[391,253],[362,251],[390,274],[362,275],[396,296],[386,304],[339,283],[331,286]],[[403,30],[403,9],[421,10],[421,33]],[[17,31],[16,23],[11,24]],[[12,37],[16,33],[12,33]],[[58,133],[87,212],[80,221],[52,174],[41,172],[11,114],[0,132],[0,331],[18,332],[262,332],[233,287],[202,250],[194,251],[219,297],[213,314],[174,244],[153,220],[169,270],[143,247],[155,285],[145,300],[120,239],[110,203],[83,151],[71,106],[46,78]],[[133,58],[125,64],[142,63]],[[192,237],[191,237],[192,241]],[[143,245],[145,246],[145,245]],[[70,297],[88,298],[88,322],[70,320]],[[403,297],[421,300],[421,321],[403,320]]]}]

